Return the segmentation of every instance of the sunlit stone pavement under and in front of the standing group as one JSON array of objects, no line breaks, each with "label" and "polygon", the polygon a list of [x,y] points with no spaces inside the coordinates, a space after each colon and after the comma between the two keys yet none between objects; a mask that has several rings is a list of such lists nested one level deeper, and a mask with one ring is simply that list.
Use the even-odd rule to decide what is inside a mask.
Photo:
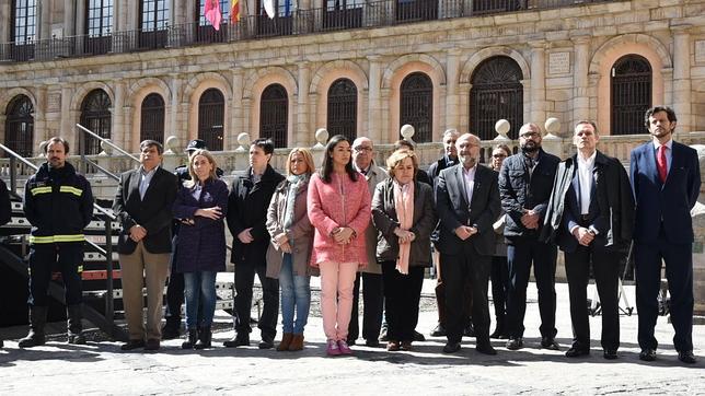
[{"label": "sunlit stone pavement under and in front of the standing group", "polygon": [[[436,324],[432,286],[426,281],[417,327],[426,334]],[[626,288],[626,294],[634,303],[633,287]],[[502,341],[494,340],[499,352],[495,357],[477,353],[474,340],[467,338],[459,353],[443,354],[444,339],[427,337],[415,342],[412,352],[356,346],[354,357],[325,358],[317,303],[302,352],[258,350],[257,329],[251,347],[223,348],[222,341],[233,335],[224,312],[217,313],[216,347],[206,351],[183,351],[181,340],[170,340],[159,352],[122,352],[118,342],[102,337],[93,337],[86,346],[68,346],[59,336],[44,347],[19,350],[16,337],[26,329],[2,329],[5,338],[14,339],[0,350],[0,394],[705,394],[705,326],[694,327],[698,363],[690,366],[677,359],[666,317],[659,317],[657,325],[658,360],[639,361],[635,315],[621,316],[620,359],[602,358],[597,339],[600,316],[590,319],[591,356],[568,359],[563,354],[571,339],[566,284],[557,286],[557,339],[563,351],[539,348],[536,291],[530,284],[527,347],[508,351]],[[62,331],[60,327],[53,325],[57,331]]]}]

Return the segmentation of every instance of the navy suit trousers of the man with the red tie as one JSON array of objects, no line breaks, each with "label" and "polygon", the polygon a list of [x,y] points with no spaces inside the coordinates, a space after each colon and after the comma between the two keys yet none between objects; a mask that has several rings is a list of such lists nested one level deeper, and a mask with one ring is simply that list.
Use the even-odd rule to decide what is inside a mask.
[{"label": "navy suit trousers of the man with the red tie", "polygon": [[671,323],[678,351],[693,350],[693,245],[669,243],[663,228],[652,244],[634,245],[636,263],[636,310],[639,314],[638,340],[642,349],[656,349],[654,326],[658,317],[657,296],[661,287],[661,260],[671,294]]}]

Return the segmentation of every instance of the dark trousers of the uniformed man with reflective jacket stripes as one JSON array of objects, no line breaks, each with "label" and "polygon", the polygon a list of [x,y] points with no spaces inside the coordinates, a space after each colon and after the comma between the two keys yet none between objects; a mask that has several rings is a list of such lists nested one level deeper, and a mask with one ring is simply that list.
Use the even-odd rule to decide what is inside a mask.
[{"label": "dark trousers of the uniformed man with reflective jacket stripes", "polygon": [[66,305],[83,301],[83,243],[34,244],[30,248],[30,306],[47,306],[54,268],[61,271]]}]

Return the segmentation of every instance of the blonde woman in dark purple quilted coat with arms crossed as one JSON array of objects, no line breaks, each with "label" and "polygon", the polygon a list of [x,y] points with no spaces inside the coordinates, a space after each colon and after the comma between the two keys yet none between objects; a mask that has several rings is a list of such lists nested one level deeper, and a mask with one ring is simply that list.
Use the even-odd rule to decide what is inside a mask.
[{"label": "blonde woman in dark purple quilted coat with arms crossed", "polygon": [[184,273],[187,338],[183,349],[210,348],[216,311],[216,275],[226,270],[228,185],[216,175],[216,161],[197,150],[188,161],[190,180],[178,189],[174,218],[182,221],[176,271]]}]

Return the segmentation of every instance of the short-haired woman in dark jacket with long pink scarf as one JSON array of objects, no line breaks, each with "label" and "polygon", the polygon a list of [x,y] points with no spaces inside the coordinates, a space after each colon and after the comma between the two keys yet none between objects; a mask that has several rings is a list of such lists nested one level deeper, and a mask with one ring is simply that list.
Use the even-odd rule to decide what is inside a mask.
[{"label": "short-haired woman in dark jacket with long pink scarf", "polygon": [[395,151],[386,165],[390,177],[377,185],[372,199],[372,221],[380,232],[377,260],[384,284],[386,350],[411,350],[437,217],[431,187],[416,179],[416,154]]}]

